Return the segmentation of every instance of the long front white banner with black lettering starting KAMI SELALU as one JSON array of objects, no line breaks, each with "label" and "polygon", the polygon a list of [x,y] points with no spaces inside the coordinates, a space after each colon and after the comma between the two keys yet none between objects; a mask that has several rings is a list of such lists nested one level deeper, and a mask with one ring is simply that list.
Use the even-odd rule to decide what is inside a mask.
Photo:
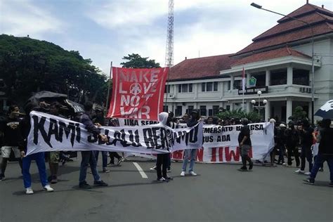
[{"label": "long front white banner with black lettering starting KAMI SELALU", "polygon": [[79,122],[48,115],[30,113],[31,129],[27,138],[27,155],[48,151],[103,150],[157,154],[202,146],[202,122],[186,129],[171,129],[163,124],[150,126],[103,126],[105,143],[86,131]]}]

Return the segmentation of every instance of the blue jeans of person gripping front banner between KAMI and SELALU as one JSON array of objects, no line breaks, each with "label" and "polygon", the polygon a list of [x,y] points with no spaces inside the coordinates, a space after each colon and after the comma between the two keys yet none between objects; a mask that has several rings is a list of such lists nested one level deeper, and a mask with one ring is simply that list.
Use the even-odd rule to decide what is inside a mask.
[{"label": "blue jeans of person gripping front banner between KAMI and SELALU", "polygon": [[80,167],[80,177],[79,183],[86,182],[86,169],[88,164],[90,164],[91,174],[93,174],[94,181],[100,181],[100,176],[98,175],[96,159],[93,155],[93,151],[81,151],[81,167]]}]

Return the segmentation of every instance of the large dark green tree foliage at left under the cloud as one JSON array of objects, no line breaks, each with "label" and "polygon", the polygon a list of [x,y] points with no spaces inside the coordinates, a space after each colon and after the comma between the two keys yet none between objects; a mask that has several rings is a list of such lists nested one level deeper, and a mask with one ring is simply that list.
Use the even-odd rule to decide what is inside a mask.
[{"label": "large dark green tree foliage at left under the cloud", "polygon": [[106,77],[90,59],[47,41],[0,35],[0,70],[6,95],[19,104],[42,90],[67,94],[76,89],[96,103],[107,93]]}]

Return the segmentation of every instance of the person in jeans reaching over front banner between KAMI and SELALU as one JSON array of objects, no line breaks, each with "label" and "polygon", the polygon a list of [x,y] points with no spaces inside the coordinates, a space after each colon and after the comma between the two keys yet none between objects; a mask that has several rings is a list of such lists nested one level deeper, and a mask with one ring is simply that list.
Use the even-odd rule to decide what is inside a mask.
[{"label": "person in jeans reaching over front banner between KAMI and SELALU", "polygon": [[[93,133],[95,136],[101,141],[107,142],[107,136],[100,133],[100,129],[98,129],[93,122],[91,121],[91,111],[93,110],[93,103],[87,102],[84,104],[84,113],[81,115],[81,123],[86,126],[86,130],[89,133]],[[86,183],[86,170],[88,165],[90,164],[91,174],[93,174],[94,182],[93,184],[96,186],[107,186],[107,183],[100,179],[97,171],[96,159],[93,155],[93,151],[81,151],[82,159],[81,159],[81,167],[80,167],[80,176],[79,176],[79,188],[90,189],[91,186]]]}]

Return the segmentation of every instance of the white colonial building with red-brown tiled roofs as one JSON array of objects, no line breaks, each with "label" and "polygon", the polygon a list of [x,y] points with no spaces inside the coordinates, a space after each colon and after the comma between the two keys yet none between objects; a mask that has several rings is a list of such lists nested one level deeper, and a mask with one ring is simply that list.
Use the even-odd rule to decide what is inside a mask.
[{"label": "white colonial building with red-brown tiled roofs", "polygon": [[[287,122],[296,106],[311,119],[311,68],[314,66],[314,110],[333,98],[333,12],[305,4],[278,20],[278,25],[253,39],[241,51],[229,55],[185,59],[171,68],[164,96],[164,110],[176,116],[199,109],[202,116],[215,115],[223,107],[242,107],[242,73],[256,78],[256,87],[244,92],[244,109],[252,100],[268,103],[264,119]],[[313,40],[313,44],[312,44]],[[314,56],[312,57],[312,46]],[[259,104],[257,103],[256,106]]]}]

